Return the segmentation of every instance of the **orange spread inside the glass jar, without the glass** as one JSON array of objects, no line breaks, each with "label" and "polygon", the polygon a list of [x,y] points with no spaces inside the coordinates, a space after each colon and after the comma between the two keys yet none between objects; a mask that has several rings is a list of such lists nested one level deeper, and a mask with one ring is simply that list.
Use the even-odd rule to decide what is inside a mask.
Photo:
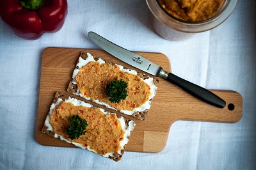
[{"label": "orange spread inside the glass jar, without the glass", "polygon": [[225,0],[158,0],[177,19],[202,21],[213,17]]}]

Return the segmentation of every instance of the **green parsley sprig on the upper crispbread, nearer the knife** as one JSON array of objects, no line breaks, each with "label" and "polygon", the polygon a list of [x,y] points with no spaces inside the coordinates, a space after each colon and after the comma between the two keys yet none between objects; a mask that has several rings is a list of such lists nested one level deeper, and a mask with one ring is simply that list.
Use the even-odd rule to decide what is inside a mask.
[{"label": "green parsley sprig on the upper crispbread, nearer the knife", "polygon": [[106,95],[112,103],[119,103],[127,97],[127,83],[120,79],[120,81],[111,81],[106,86]]}]

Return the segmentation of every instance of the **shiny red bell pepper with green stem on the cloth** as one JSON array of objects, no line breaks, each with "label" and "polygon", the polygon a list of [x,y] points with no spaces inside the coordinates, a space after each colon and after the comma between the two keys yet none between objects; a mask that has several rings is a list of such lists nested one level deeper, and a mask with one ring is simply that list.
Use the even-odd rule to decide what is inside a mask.
[{"label": "shiny red bell pepper with green stem on the cloth", "polygon": [[67,0],[0,0],[1,18],[26,40],[59,31],[67,17],[67,8]]}]

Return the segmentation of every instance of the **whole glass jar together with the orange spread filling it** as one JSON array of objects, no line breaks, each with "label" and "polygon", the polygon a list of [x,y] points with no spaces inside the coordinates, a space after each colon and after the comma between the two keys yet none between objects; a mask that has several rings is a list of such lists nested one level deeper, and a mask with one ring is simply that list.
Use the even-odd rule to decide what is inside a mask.
[{"label": "whole glass jar together with the orange spread filling it", "polygon": [[223,23],[237,0],[146,0],[150,22],[166,40],[187,40]]}]

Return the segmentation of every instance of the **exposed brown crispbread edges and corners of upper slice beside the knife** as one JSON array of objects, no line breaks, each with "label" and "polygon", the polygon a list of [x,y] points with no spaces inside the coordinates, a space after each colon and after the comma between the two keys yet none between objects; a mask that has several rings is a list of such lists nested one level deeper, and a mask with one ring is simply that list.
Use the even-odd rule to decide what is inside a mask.
[{"label": "exposed brown crispbread edges and corners of upper slice beside the knife", "polygon": [[[81,58],[83,59],[86,59],[87,58],[87,54],[84,53],[84,52],[81,52],[80,56]],[[95,61],[98,61],[99,58],[93,56],[93,58],[95,59]],[[104,60],[106,63],[111,63],[111,65],[115,65],[115,63],[111,62],[111,61],[108,61],[104,58],[100,58],[102,60]],[[77,61],[77,63],[79,62],[79,60]],[[77,68],[77,66],[76,66]],[[125,68],[125,69],[129,69],[129,68]],[[141,72],[138,72],[138,76],[141,77],[141,79],[148,79],[150,78],[148,75],[146,75],[145,73],[141,73]],[[159,83],[159,79],[157,79],[156,77],[152,77],[153,78],[153,82],[154,82],[154,85],[155,86],[158,86],[158,83]],[[67,91],[68,93],[72,93],[74,95],[77,95],[77,84],[74,84],[72,83],[72,81],[74,81],[73,79],[71,79],[71,81],[69,82],[68,84],[68,88],[67,88]],[[150,101],[152,102],[152,99],[150,99]],[[134,118],[137,118],[138,120],[145,120],[146,116],[147,116],[147,113],[148,113],[148,110],[145,110],[145,111],[137,111],[137,112],[134,112],[131,116],[134,117]]]}]

